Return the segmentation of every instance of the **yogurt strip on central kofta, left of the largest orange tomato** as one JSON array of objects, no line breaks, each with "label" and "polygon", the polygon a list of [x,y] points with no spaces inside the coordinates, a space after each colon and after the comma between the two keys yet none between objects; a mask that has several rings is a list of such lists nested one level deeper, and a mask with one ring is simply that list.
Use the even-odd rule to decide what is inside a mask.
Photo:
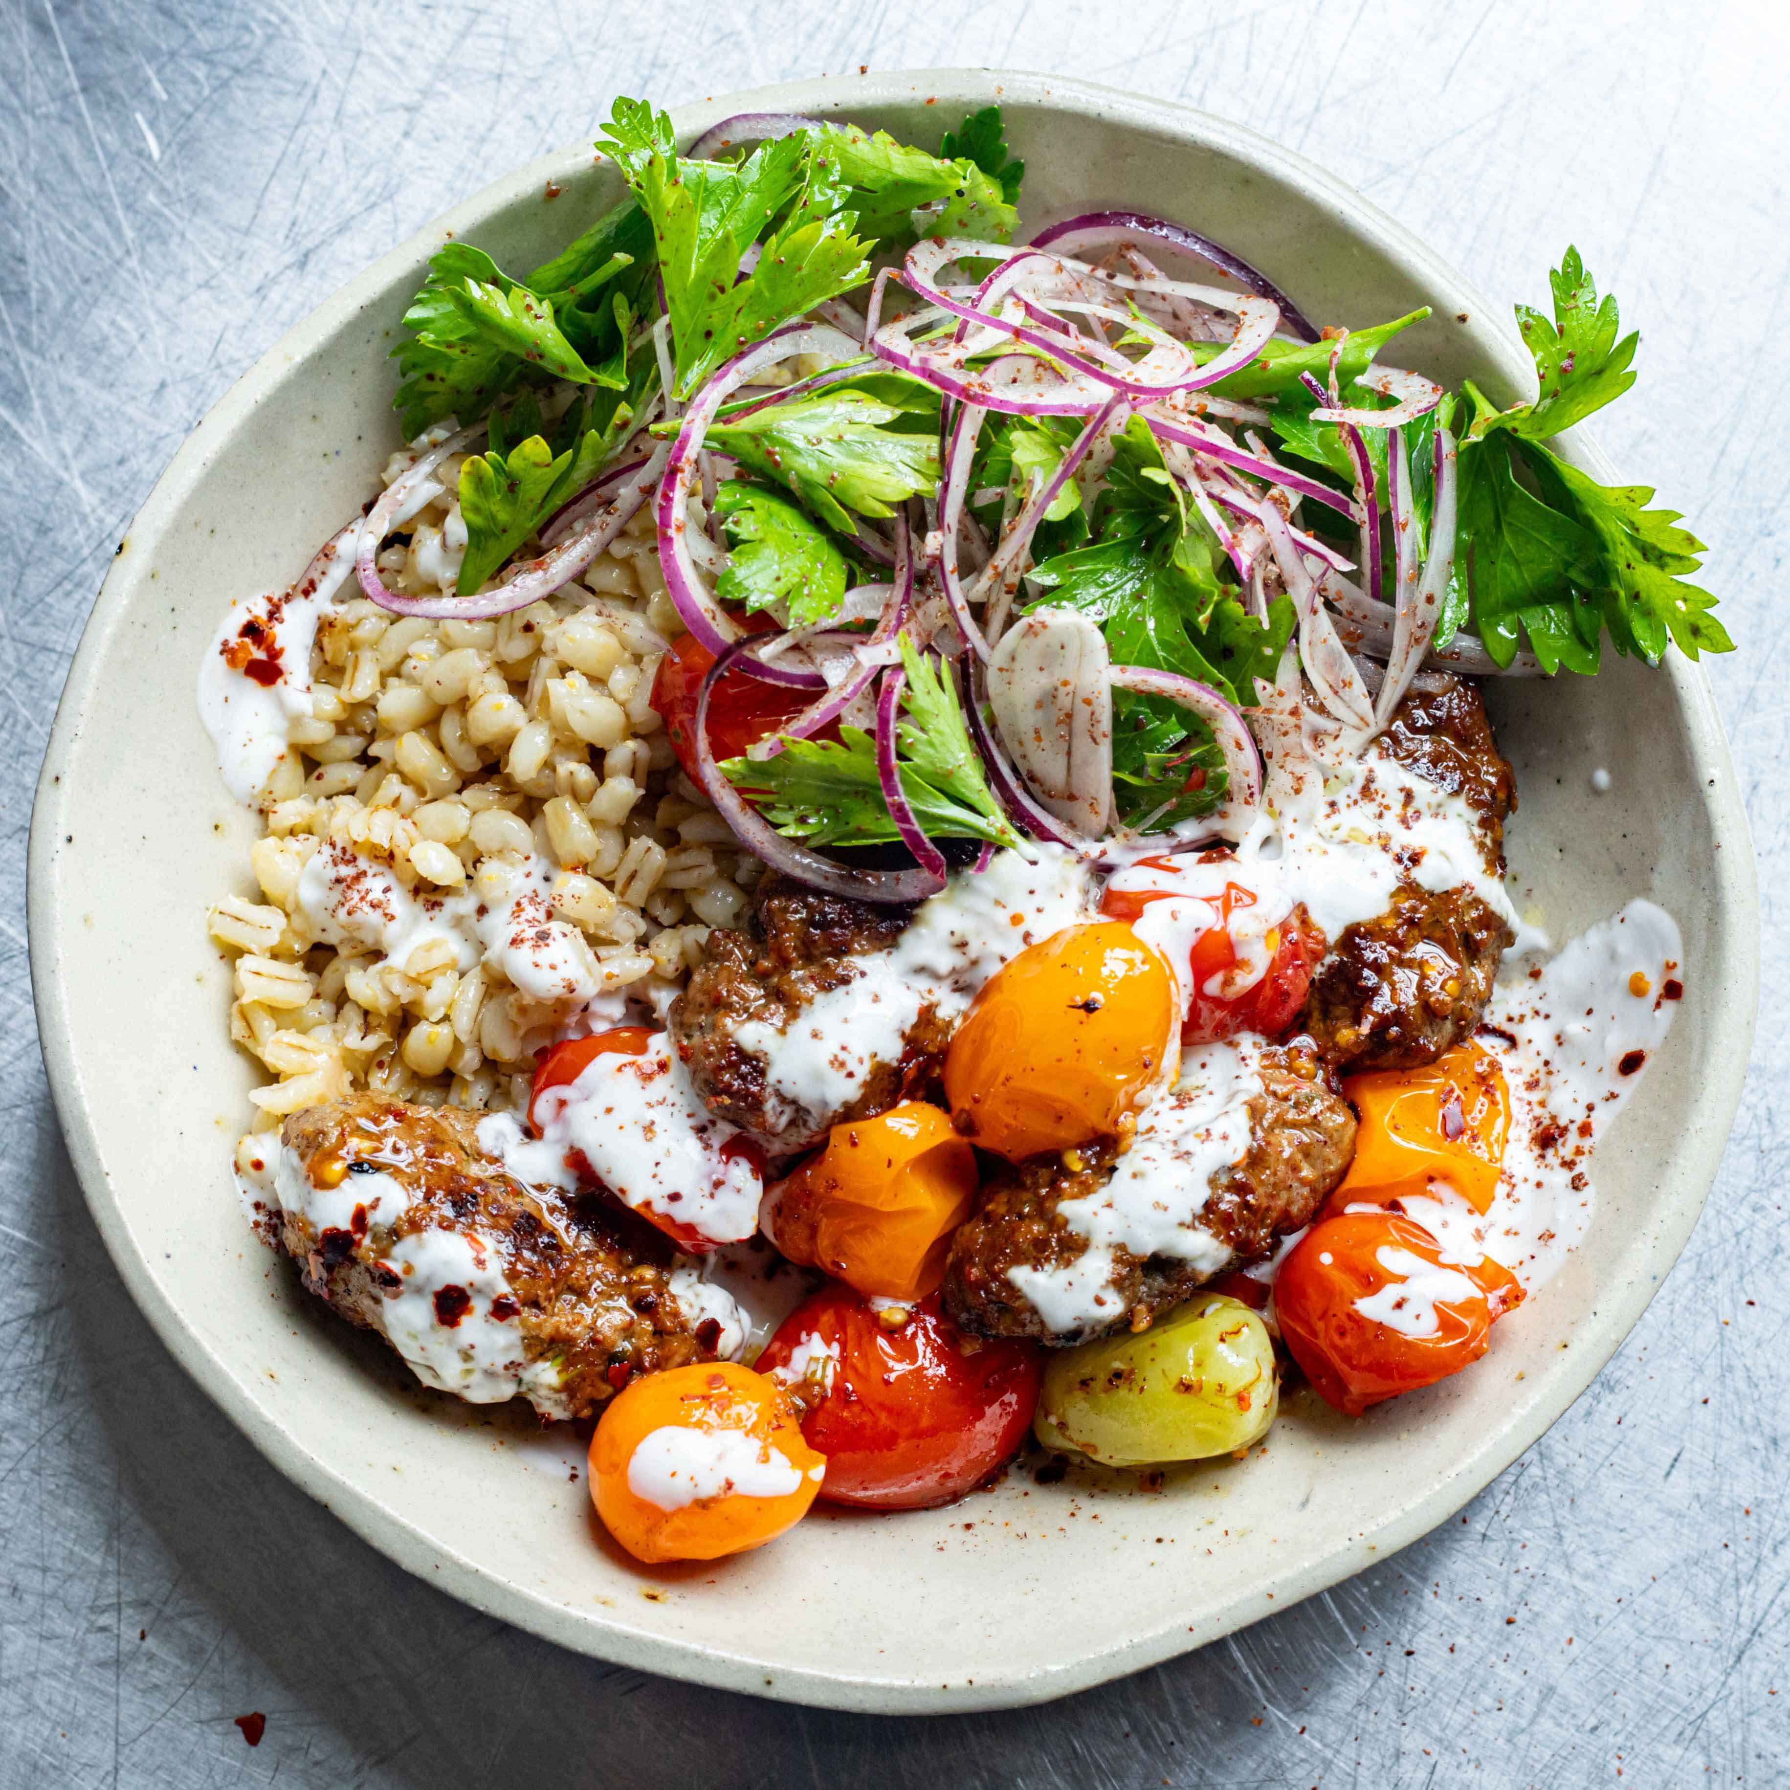
[{"label": "yogurt strip on central kofta, left of the largest orange tomato", "polygon": [[997,852],[981,874],[959,870],[924,900],[888,950],[816,997],[784,1029],[739,1026],[741,1049],[764,1058],[766,1112],[779,1133],[814,1131],[863,1094],[877,1061],[899,1061],[925,1008],[959,1019],[976,992],[1027,945],[1092,918],[1087,865],[1063,847]]}]

